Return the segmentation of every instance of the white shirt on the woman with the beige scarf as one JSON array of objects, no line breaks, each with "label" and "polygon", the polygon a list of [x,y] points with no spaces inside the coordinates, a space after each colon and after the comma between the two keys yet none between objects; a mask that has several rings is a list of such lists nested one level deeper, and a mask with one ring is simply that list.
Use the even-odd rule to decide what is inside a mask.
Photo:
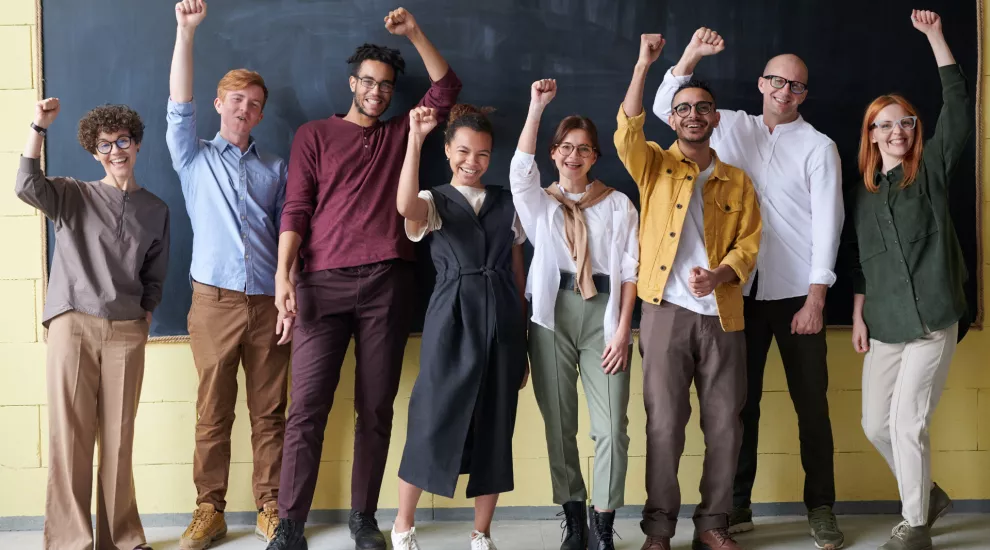
[{"label": "white shirt on the woman with the beige scarf", "polygon": [[[560,290],[560,272],[577,271],[567,251],[564,213],[560,203],[540,187],[540,171],[533,155],[516,151],[509,167],[509,184],[516,213],[533,243],[533,261],[526,278],[526,297],[533,302],[532,320],[554,330],[554,306],[557,291]],[[604,319],[607,345],[619,328],[622,283],[636,282],[639,213],[629,197],[613,191],[598,204],[585,209],[584,217],[588,226],[592,271],[609,276]],[[567,252],[561,253],[561,250]],[[561,265],[565,258],[567,262]]]}]

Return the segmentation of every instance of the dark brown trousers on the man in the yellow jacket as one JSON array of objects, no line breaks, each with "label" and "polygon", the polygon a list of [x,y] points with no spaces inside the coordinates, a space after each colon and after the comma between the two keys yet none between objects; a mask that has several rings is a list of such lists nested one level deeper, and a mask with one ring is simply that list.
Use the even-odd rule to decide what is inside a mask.
[{"label": "dark brown trousers on the man in the yellow jacket", "polygon": [[677,469],[691,417],[693,380],[705,435],[701,503],[694,524],[699,532],[727,527],[742,444],[745,336],[723,331],[718,317],[669,302],[644,303],[639,345],[646,401],[646,506],[640,526],[649,536],[674,535],[681,508]]}]

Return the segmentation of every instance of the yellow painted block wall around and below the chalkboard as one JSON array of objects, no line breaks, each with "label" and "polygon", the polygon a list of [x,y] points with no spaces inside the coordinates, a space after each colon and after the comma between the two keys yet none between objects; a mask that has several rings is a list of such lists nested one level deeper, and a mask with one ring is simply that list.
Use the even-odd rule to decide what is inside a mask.
[{"label": "yellow painted block wall around and below the chalkboard", "polygon": [[[990,0],[986,11],[990,11]],[[990,25],[984,22],[984,29]],[[45,345],[40,315],[42,218],[12,192],[17,158],[37,97],[34,74],[34,0],[4,0],[0,10],[0,174],[8,190],[0,193],[0,517],[44,514],[48,422],[45,407]],[[990,42],[988,42],[990,44]],[[990,47],[984,55],[990,55]],[[990,76],[990,64],[987,65]],[[990,79],[985,81],[990,82]],[[988,88],[984,86],[984,98]],[[984,112],[990,109],[984,108]],[[70,125],[74,121],[59,121]],[[990,125],[988,125],[990,126]],[[990,127],[988,127],[990,129]],[[988,134],[990,137],[990,134]],[[982,145],[990,174],[990,139]],[[983,182],[984,258],[990,260],[990,183]],[[990,263],[983,266],[984,289]],[[990,293],[986,301],[990,303]],[[830,331],[829,401],[836,444],[836,483],[840,500],[896,500],[897,487],[886,464],[863,436],[859,424],[861,357],[853,353],[846,331]],[[381,506],[395,508],[396,470],[404,442],[409,391],[417,371],[419,341],[409,342],[402,389],[395,403],[395,425]],[[354,420],[353,358],[349,358],[337,391],[323,450],[314,508],[349,507],[349,474]],[[645,414],[641,366],[634,354],[630,406],[628,504],[641,504],[644,491]],[[243,378],[241,379],[243,387]],[[196,418],[196,372],[186,344],[148,346],[144,391],[137,418],[135,478],[141,512],[182,513],[194,507],[192,483],[193,429]],[[697,406],[693,407],[697,410]],[[233,461],[228,495],[230,511],[253,508],[251,448],[247,407],[240,396],[234,425]],[[515,437],[516,491],[500,504],[552,506],[543,425],[531,389],[523,392]],[[587,412],[582,409],[580,448],[590,470],[592,446]],[[800,501],[802,477],[797,421],[776,352],[772,352],[763,397],[760,473],[754,500]],[[957,499],[990,499],[990,332],[973,332],[952,363],[948,386],[932,428],[934,476]],[[689,426],[681,463],[684,501],[698,501],[703,439],[697,418]],[[587,477],[587,474],[586,474]],[[463,494],[463,487],[459,491]],[[423,507],[470,506],[454,500],[424,497]]]}]

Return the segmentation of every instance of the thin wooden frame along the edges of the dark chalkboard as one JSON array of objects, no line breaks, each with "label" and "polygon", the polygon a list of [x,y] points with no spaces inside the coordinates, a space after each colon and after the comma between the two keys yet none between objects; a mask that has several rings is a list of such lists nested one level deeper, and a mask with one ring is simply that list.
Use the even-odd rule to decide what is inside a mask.
[{"label": "thin wooden frame along the edges of the dark chalkboard", "polygon": [[[984,73],[986,72],[984,59],[984,28],[983,22],[986,21],[985,11],[986,6],[984,5],[985,0],[971,0],[976,2],[976,15],[977,15],[977,76],[976,76],[976,104],[975,104],[975,136],[976,140],[976,192],[975,192],[975,208],[976,208],[976,273],[971,274],[971,276],[976,277],[976,315],[973,319],[973,324],[971,328],[982,330],[984,323],[984,316],[986,313],[985,309],[985,293],[987,289],[985,287],[984,269],[985,269],[985,258],[984,258],[984,246],[986,243],[983,242],[984,237],[984,223],[986,221],[983,219],[983,203],[984,203],[984,171],[987,167],[984,165],[984,149],[987,147],[984,140],[987,138],[984,128],[984,120],[986,117],[990,116],[990,108],[986,105],[986,101],[990,100],[983,97],[983,81],[985,80]],[[34,87],[37,90],[37,99],[44,98],[44,55],[43,55],[43,32],[42,32],[42,0],[35,0],[35,29],[34,33]],[[41,164],[42,167],[46,166],[46,147],[42,149]],[[42,271],[42,304],[47,298],[48,293],[48,224],[44,216],[39,217],[39,225],[41,230],[41,255],[39,260],[41,261],[41,271]],[[37,313],[37,318],[40,318],[41,312]],[[846,325],[829,325],[832,329],[849,329],[850,327]],[[42,327],[41,329],[43,339],[47,341],[48,331]],[[633,332],[639,332],[638,329]],[[412,334],[413,337],[418,337],[419,333]],[[188,342],[189,335],[177,335],[177,336],[152,336],[149,338],[149,342],[153,343],[179,343]]]}]

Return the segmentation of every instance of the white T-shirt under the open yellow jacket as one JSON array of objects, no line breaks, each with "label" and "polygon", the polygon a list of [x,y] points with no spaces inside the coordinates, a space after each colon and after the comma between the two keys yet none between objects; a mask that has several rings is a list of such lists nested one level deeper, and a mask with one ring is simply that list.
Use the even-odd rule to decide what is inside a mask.
[{"label": "white T-shirt under the open yellow jacket", "polygon": [[[701,298],[691,292],[688,280],[691,269],[703,267],[711,270],[708,265],[708,249],[705,248],[705,198],[702,195],[705,183],[715,171],[715,159],[698,174],[694,180],[694,191],[688,202],[687,217],[681,226],[681,238],[677,242],[677,253],[674,263],[670,266],[670,276],[667,285],[663,287],[663,299],[689,309],[701,315],[718,317],[718,304],[715,303],[715,293]],[[718,266],[715,266],[718,267]]]}]

